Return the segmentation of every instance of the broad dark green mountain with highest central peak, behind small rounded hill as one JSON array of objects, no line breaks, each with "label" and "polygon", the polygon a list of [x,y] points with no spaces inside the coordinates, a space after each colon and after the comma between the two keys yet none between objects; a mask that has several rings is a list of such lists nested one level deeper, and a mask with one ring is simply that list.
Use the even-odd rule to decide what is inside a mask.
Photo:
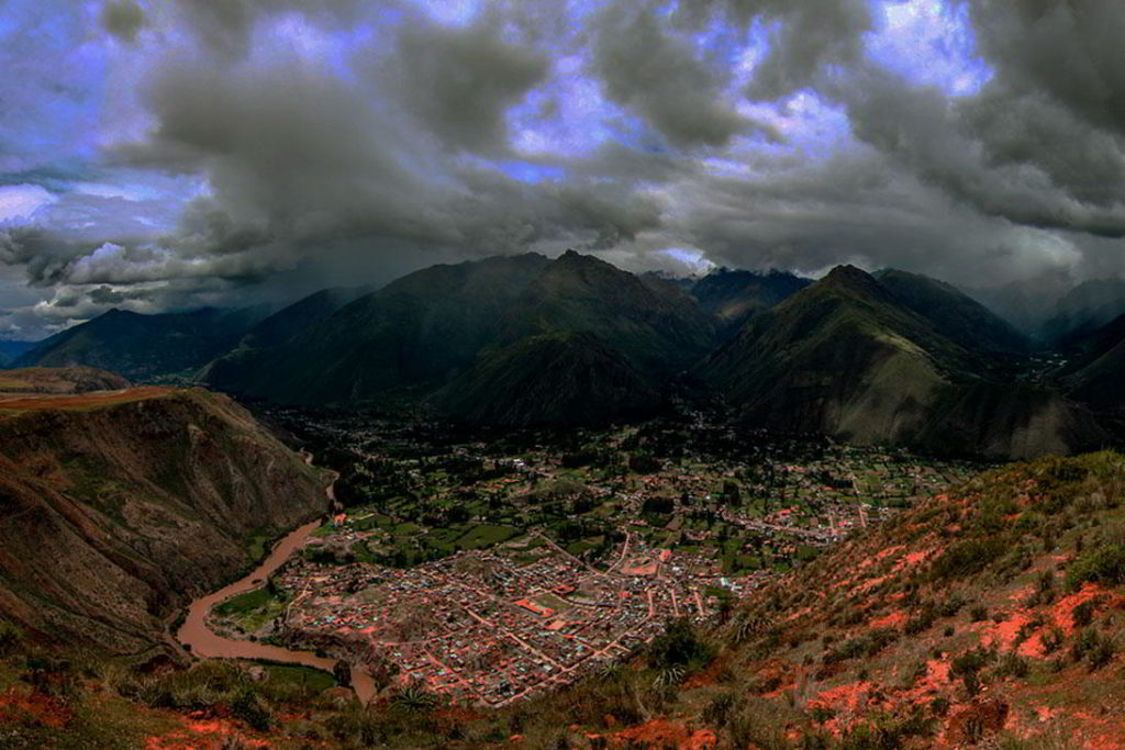
[{"label": "broad dark green mountain with highest central peak, behind small rounded hill", "polygon": [[[708,315],[674,284],[641,280],[574,252],[554,261],[525,254],[417,271],[281,344],[242,347],[208,368],[206,377],[237,394],[300,404],[411,404],[443,387],[447,401],[454,383],[471,386],[476,401],[493,379],[479,370],[459,376],[475,365],[487,370],[480,358],[556,333],[593,334],[612,350],[611,359],[623,356],[645,373],[682,370],[714,341]],[[551,342],[567,341],[542,338],[536,355]],[[559,356],[570,353],[565,349]]]}]

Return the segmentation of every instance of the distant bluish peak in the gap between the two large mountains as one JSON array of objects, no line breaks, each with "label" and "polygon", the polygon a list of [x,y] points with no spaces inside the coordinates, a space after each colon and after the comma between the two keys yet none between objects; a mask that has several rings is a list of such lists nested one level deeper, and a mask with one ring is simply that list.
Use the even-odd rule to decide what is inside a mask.
[{"label": "distant bluish peak in the gap between the two large mountains", "polygon": [[812,281],[785,271],[757,273],[718,269],[695,281],[692,296],[719,320],[723,334],[738,333],[746,322],[788,299]]}]

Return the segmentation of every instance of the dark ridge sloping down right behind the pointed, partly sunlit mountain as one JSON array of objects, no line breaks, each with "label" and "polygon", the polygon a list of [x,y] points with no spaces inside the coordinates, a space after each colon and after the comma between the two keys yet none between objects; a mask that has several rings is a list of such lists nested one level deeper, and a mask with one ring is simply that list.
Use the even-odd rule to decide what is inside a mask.
[{"label": "dark ridge sloping down right behind the pointed, partly sunlit mountain", "polygon": [[965,349],[1009,354],[1032,349],[1027,336],[952,284],[894,269],[880,271],[875,278],[899,302]]}]

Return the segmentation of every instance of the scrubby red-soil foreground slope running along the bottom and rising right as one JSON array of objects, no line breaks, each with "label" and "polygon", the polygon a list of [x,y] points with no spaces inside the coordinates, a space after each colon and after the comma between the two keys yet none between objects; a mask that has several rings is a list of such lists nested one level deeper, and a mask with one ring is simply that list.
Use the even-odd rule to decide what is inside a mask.
[{"label": "scrubby red-soil foreground slope running along the bottom and rising right", "polygon": [[0,631],[0,685],[33,676],[0,713],[18,720],[10,737],[40,740],[25,747],[108,725],[160,748],[1119,748],[1123,493],[1117,453],[1002,467],[746,593],[724,622],[678,623],[496,712],[421,686],[364,711],[227,663],[82,677],[33,668],[43,654]]}]

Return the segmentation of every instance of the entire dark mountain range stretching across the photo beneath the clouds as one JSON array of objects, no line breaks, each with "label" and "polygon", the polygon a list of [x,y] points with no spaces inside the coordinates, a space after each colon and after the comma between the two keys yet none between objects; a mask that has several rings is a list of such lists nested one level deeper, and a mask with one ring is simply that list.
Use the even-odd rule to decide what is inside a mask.
[{"label": "entire dark mountain range stretching across the photo beneath the clouds", "polygon": [[1044,362],[984,305],[918,274],[719,269],[673,281],[568,251],[434,265],[269,316],[114,310],[16,364],[508,426],[644,416],[691,394],[750,426],[1028,457],[1113,440],[1101,415],[1122,408],[1113,383],[1125,369],[1125,324],[1114,325],[1071,336],[1065,363]]}]

